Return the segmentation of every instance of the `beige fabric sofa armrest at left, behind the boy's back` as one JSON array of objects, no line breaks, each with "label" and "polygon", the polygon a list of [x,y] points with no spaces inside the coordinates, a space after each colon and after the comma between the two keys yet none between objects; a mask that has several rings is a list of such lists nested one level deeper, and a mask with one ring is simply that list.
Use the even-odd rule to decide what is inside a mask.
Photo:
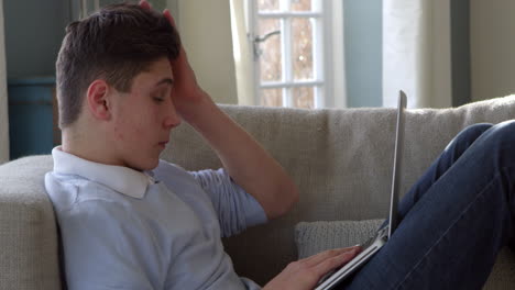
[{"label": "beige fabric sofa armrest at left, behind the boy's back", "polygon": [[0,289],[61,289],[57,228],[44,188],[50,156],[0,166]]}]

